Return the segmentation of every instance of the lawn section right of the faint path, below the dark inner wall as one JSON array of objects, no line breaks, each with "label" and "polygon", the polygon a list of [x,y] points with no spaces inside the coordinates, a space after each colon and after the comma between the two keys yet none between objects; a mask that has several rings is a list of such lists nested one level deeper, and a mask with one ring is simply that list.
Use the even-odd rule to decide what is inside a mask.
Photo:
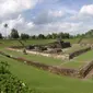
[{"label": "lawn section right of the faint path, below the dark inner wall", "polygon": [[93,50],[90,50],[83,55],[80,55],[62,66],[71,67],[71,68],[80,68],[86,62],[90,62],[91,60],[93,60]]}]

